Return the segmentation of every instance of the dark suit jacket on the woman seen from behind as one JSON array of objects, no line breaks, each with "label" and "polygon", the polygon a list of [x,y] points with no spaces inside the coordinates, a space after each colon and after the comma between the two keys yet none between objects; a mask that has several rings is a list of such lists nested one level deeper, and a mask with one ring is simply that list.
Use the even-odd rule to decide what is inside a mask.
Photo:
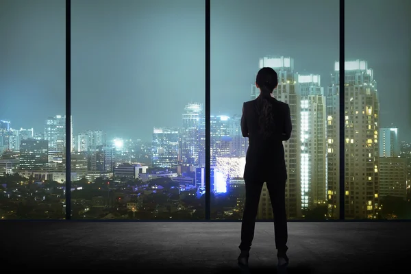
[{"label": "dark suit jacket on the woman seen from behind", "polygon": [[244,179],[285,182],[287,171],[282,142],[291,136],[290,107],[287,103],[270,98],[275,127],[271,137],[263,138],[256,100],[245,102],[242,106],[241,132],[242,136],[249,138]]}]

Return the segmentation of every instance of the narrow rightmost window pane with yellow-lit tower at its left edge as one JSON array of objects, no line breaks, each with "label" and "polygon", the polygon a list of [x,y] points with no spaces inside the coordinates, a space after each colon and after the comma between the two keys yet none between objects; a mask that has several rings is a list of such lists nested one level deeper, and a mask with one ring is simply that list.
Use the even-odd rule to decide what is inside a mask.
[{"label": "narrow rightmost window pane with yellow-lit tower at its left edge", "polygon": [[411,4],[345,7],[345,219],[410,219]]}]

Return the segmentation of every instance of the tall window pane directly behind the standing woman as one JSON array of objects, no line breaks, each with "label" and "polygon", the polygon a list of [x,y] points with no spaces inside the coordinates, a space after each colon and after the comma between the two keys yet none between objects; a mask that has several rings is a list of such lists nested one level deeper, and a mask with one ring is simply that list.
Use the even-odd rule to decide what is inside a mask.
[{"label": "tall window pane directly behind the standing woman", "polygon": [[[284,142],[287,217],[338,217],[338,111],[327,114],[326,108],[339,53],[338,10],[336,0],[212,1],[213,219],[242,218],[248,140],[242,138],[240,117],[242,103],[260,94],[254,83],[263,66],[277,71],[273,95],[288,103],[292,116],[292,135]],[[281,184],[272,168],[269,183]],[[272,218],[264,184],[257,219]]]}]

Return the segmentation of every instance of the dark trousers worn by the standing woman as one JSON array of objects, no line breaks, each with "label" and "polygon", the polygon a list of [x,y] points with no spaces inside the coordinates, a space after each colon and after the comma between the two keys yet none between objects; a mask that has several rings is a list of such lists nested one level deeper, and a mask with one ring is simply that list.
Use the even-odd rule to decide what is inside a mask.
[{"label": "dark trousers worn by the standing woman", "polygon": [[[261,190],[264,182],[245,180],[245,208],[241,223],[241,251],[249,251],[254,238],[256,216]],[[288,247],[287,216],[286,216],[286,182],[266,182],[273,207],[275,248],[277,256],[286,253]]]}]

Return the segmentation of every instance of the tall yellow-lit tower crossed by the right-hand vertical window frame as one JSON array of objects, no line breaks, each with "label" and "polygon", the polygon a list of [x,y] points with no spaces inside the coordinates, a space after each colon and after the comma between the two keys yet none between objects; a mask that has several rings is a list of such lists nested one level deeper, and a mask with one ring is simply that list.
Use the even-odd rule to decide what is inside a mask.
[{"label": "tall yellow-lit tower crossed by the right-hand vertical window frame", "polygon": [[[345,61],[345,219],[374,219],[379,208],[379,102],[366,61]],[[327,94],[329,217],[339,218],[339,62]]]}]

